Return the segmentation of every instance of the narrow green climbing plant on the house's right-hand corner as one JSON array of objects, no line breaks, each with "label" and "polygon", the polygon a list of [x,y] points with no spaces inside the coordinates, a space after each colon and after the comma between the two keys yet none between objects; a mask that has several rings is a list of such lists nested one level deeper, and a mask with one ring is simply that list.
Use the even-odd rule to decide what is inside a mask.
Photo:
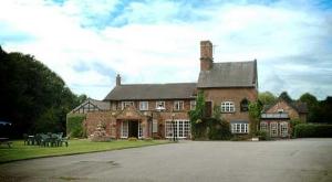
[{"label": "narrow green climbing plant on the house's right-hand corner", "polygon": [[258,130],[258,124],[262,110],[262,105],[259,101],[252,101],[249,104],[249,117],[250,117],[250,133],[256,135]]}]

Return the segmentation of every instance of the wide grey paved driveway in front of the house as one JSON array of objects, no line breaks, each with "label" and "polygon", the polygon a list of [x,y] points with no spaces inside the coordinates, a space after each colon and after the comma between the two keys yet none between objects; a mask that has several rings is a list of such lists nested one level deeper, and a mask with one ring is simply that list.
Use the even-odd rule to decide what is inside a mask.
[{"label": "wide grey paved driveway in front of the house", "polygon": [[332,139],[179,143],[0,165],[0,181],[331,182]]}]

